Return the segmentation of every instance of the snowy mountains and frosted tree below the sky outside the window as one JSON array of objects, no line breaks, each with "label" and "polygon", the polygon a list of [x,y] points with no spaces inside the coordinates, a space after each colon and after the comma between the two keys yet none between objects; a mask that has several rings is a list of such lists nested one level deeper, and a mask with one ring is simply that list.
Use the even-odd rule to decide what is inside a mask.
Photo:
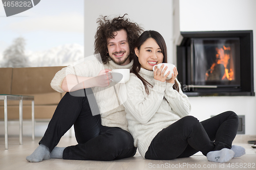
[{"label": "snowy mountains and frosted tree below the sky outside the window", "polygon": [[34,52],[26,50],[22,39],[15,39],[16,42],[0,54],[0,67],[66,66],[84,57],[83,46],[80,44],[59,45],[46,51]]}]

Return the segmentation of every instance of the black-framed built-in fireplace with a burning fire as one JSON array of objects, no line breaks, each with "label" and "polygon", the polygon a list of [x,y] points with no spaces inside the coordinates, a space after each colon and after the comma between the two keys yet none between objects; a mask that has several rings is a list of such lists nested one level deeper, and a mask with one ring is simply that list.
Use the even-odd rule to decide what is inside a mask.
[{"label": "black-framed built-in fireplace with a burning fire", "polygon": [[252,31],[181,32],[178,79],[188,96],[253,95]]}]

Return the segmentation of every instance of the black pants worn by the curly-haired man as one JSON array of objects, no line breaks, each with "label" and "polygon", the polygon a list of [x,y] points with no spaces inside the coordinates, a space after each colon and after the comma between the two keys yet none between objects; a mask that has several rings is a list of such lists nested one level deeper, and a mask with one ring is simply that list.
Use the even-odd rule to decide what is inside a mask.
[{"label": "black pants worn by the curly-haired man", "polygon": [[102,126],[96,100],[93,97],[90,107],[87,94],[93,94],[91,88],[63,96],[39,144],[51,152],[74,125],[78,144],[67,147],[63,159],[107,161],[134,156],[137,148],[132,135],[118,127]]}]

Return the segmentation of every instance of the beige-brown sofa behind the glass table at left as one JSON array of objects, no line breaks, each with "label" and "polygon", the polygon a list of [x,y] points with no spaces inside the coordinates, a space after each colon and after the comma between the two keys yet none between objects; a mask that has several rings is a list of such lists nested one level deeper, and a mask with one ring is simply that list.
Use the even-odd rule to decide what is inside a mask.
[{"label": "beige-brown sofa behind the glass table at left", "polygon": [[[51,80],[63,66],[0,68],[0,94],[33,95],[35,119],[50,119],[65,93],[54,91]],[[9,119],[18,119],[18,101],[8,101]],[[4,119],[4,101],[0,101],[0,119]],[[23,101],[23,119],[31,119],[31,101]]]}]

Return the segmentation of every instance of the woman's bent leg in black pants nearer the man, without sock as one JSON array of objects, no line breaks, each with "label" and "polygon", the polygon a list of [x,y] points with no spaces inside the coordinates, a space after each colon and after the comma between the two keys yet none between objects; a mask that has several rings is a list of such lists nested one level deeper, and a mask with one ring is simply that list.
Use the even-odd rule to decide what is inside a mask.
[{"label": "woman's bent leg in black pants nearer the man, without sock", "polygon": [[214,141],[209,139],[201,123],[193,116],[185,116],[160,131],[152,140],[145,158],[170,160],[184,157],[188,148],[204,155],[215,148]]}]

